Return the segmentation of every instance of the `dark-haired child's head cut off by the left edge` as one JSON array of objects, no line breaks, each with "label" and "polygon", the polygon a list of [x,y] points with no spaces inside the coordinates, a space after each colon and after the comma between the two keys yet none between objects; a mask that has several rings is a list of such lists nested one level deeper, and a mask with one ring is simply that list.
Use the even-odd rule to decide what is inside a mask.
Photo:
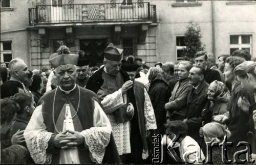
[{"label": "dark-haired child's head cut off by the left edge", "polygon": [[12,98],[1,99],[1,133],[6,133],[15,122],[18,103]]}]

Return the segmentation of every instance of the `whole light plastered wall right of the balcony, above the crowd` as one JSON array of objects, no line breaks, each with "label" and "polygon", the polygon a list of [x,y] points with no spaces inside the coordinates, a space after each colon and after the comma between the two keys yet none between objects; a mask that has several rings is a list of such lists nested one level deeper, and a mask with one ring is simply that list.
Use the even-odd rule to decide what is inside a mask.
[{"label": "whole light plastered wall right of the balcony, above the crowd", "polygon": [[[173,7],[175,1],[147,1],[157,8],[156,30],[157,61],[176,61],[176,36],[184,35],[190,20],[201,27],[202,43],[212,53],[211,2],[199,1],[201,6]],[[230,34],[252,34],[253,52],[256,57],[256,5],[227,5],[229,1],[214,1],[216,57],[229,53]]]}]

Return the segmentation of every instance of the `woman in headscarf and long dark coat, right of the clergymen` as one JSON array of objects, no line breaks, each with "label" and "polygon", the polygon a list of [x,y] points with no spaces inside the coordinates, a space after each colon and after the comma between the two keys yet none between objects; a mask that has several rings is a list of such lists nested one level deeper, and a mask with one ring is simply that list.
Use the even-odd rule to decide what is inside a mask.
[{"label": "woman in headscarf and long dark coat, right of the clergymen", "polygon": [[165,134],[164,123],[166,123],[166,112],[164,104],[168,102],[168,84],[163,76],[163,70],[161,68],[152,68],[148,75],[150,80],[150,88],[148,94],[150,95],[154,113],[157,121],[157,133]]}]

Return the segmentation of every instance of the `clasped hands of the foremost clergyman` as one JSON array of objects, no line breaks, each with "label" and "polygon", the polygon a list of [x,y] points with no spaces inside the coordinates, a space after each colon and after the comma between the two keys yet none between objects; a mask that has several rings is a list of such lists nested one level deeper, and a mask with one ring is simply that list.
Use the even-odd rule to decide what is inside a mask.
[{"label": "clasped hands of the foremost clergyman", "polygon": [[66,130],[57,134],[54,138],[54,146],[61,149],[78,146],[84,142],[80,132]]}]

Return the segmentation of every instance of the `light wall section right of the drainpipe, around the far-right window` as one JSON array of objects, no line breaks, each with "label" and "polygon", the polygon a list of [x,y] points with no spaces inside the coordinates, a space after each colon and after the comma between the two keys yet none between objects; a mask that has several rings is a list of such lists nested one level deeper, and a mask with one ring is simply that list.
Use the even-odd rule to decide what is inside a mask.
[{"label": "light wall section right of the drainpipe, around the far-right window", "polygon": [[223,53],[229,54],[230,34],[251,34],[252,56],[256,57],[256,4],[227,5],[227,2],[215,2],[217,57]]}]

